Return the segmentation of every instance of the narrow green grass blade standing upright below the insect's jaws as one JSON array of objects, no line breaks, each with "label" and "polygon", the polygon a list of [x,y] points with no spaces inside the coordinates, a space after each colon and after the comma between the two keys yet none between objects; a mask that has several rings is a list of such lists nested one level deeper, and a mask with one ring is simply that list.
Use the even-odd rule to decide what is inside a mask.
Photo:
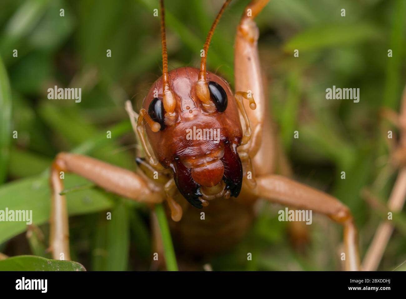
[{"label": "narrow green grass blade standing upright below the insect's jaws", "polygon": [[166,268],[168,271],[178,271],[171,231],[169,231],[168,221],[166,220],[166,214],[162,203],[155,205],[155,213],[158,218],[162,243],[164,245]]}]

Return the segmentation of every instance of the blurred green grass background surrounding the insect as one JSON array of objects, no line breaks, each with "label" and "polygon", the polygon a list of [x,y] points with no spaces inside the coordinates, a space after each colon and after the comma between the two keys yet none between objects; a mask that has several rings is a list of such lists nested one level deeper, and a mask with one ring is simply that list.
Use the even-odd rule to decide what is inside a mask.
[{"label": "blurred green grass background surrounding the insect", "polygon": [[[232,2],[208,52],[209,70],[231,86],[235,28],[247,2]],[[170,69],[199,65],[219,6],[215,0],[167,1]],[[157,0],[2,0],[0,184],[6,183],[0,185],[0,209],[33,210],[34,225],[45,240],[48,167],[56,153],[75,151],[135,167],[135,138],[124,102],[132,99],[140,108],[161,74],[159,19],[153,17],[158,7]],[[340,15],[342,8],[346,17]],[[399,110],[406,82],[405,20],[404,0],[271,0],[257,17],[270,117],[293,176],[350,207],[360,229],[361,256],[381,215],[360,192],[369,188],[387,199],[396,175],[386,132],[397,128],[380,115],[383,107]],[[13,57],[14,49],[18,57]],[[294,49],[299,57],[293,56]],[[391,58],[388,49],[393,50]],[[81,87],[82,102],[48,100],[47,89],[54,85]],[[360,102],[326,100],[325,89],[333,85],[360,88]],[[107,130],[111,140],[105,137]],[[295,130],[299,139],[293,139]],[[67,193],[72,259],[88,270],[149,269],[148,207],[66,176],[67,189],[78,186],[87,187]],[[208,260],[214,270],[341,269],[338,225],[317,216],[308,229],[309,241],[298,245],[289,237],[292,228],[277,220],[278,206],[264,203],[260,210],[241,244]],[[108,211],[114,215],[110,222]],[[404,214],[399,217],[403,227]],[[0,251],[43,252],[43,245],[22,234],[26,229],[24,223],[1,223]],[[247,262],[246,252],[253,253],[253,261]],[[395,229],[380,269],[392,270],[405,259],[404,229]]]}]

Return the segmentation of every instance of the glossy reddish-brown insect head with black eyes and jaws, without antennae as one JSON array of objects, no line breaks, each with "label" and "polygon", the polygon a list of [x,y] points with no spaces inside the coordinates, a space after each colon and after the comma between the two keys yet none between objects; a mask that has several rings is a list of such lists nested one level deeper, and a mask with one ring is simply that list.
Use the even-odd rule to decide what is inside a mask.
[{"label": "glossy reddish-brown insect head with black eyes and jaws, without antennae", "polygon": [[[158,161],[171,168],[181,194],[195,207],[201,207],[201,187],[214,188],[221,181],[231,196],[238,196],[242,184],[242,164],[237,147],[242,140],[240,115],[235,98],[226,81],[207,72],[210,100],[216,105],[207,112],[197,96],[199,69],[178,68],[168,74],[168,83],[176,100],[174,124],[162,125],[165,114],[162,101],[162,78],[153,83],[143,107],[161,130],[146,126],[147,136]],[[158,98],[154,91],[158,90]],[[162,129],[164,128],[164,129]]]}]

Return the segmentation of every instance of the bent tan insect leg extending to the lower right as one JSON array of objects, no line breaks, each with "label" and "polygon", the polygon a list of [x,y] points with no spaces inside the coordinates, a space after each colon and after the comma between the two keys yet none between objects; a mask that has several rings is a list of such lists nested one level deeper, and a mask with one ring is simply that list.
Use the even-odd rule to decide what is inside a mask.
[{"label": "bent tan insect leg extending to the lower right", "polygon": [[343,225],[347,271],[359,271],[357,230],[351,212],[338,199],[279,175],[257,177],[256,196],[289,207],[324,214]]}]

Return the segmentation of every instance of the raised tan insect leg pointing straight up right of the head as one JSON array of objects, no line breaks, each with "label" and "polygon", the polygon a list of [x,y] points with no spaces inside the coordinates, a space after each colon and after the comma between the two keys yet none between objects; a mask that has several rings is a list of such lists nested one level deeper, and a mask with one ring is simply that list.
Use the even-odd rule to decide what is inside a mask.
[{"label": "raised tan insect leg pointing straight up right of the head", "polygon": [[252,164],[257,175],[272,173],[274,169],[274,138],[266,97],[266,82],[261,73],[257,50],[259,32],[254,22],[255,16],[268,1],[254,0],[245,8],[237,28],[234,53],[235,90],[251,91],[257,104],[257,109],[251,110],[249,104],[244,103],[253,130],[249,149],[244,149],[253,157]]}]

